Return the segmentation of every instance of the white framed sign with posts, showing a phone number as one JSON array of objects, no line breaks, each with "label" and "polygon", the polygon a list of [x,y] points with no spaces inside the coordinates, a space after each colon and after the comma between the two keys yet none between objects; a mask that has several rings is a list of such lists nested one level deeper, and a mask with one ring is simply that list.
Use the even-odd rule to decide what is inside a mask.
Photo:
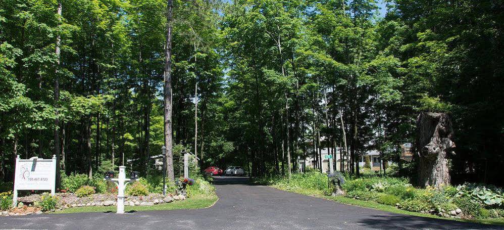
[{"label": "white framed sign with posts, showing a phone number", "polygon": [[56,193],[56,155],[52,159],[16,157],[13,204],[18,204],[18,190],[51,190]]}]

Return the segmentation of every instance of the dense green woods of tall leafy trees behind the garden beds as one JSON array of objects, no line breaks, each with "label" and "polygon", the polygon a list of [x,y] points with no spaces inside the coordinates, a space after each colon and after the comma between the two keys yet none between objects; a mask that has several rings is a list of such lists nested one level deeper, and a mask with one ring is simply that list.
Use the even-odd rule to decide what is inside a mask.
[{"label": "dense green woods of tall leafy trees behind the garden beds", "polygon": [[290,176],[306,156],[320,168],[322,146],[350,173],[377,150],[415,177],[399,145],[428,111],[451,119],[452,183],[503,185],[501,1],[390,0],[383,16],[374,0],[0,6],[4,181],[16,155],[56,154],[62,174],[159,173],[165,136],[174,176],[184,150],[203,168]]}]

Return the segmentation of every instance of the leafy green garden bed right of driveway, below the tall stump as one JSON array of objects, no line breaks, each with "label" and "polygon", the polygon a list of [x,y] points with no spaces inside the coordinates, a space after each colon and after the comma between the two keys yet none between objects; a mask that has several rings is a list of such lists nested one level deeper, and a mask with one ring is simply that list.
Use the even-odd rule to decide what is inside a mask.
[{"label": "leafy green garden bed right of driveway, below the tall stump", "polygon": [[326,174],[308,172],[293,174],[290,180],[270,177],[257,179],[256,182],[281,190],[384,211],[504,224],[502,190],[492,186],[465,184],[420,189],[413,187],[405,178],[345,176],[341,186],[342,195],[331,196],[334,191],[330,188],[328,179]]}]

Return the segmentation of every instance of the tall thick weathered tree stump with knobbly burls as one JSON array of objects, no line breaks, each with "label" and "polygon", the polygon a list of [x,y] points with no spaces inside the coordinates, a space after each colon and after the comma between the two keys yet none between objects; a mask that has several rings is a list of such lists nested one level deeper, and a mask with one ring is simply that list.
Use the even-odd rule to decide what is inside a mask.
[{"label": "tall thick weathered tree stump with knobbly burls", "polygon": [[418,185],[439,188],[450,183],[449,157],[455,155],[453,128],[445,113],[423,112],[417,118]]}]

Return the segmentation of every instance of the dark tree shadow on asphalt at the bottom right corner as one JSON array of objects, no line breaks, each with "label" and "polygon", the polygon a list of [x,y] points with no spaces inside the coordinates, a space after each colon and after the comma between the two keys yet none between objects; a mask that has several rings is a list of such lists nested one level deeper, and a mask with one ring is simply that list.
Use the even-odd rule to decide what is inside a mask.
[{"label": "dark tree shadow on asphalt at the bottom right corner", "polygon": [[504,229],[504,226],[402,215],[372,215],[358,221],[372,229]]}]

